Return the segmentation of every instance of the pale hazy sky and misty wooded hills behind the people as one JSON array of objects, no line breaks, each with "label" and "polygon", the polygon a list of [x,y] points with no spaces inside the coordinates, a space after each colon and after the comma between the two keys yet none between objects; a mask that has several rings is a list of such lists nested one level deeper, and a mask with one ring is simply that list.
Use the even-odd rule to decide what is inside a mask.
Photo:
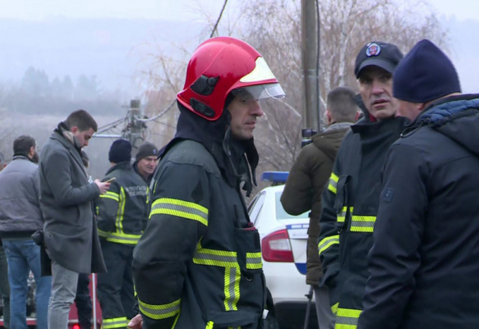
[{"label": "pale hazy sky and misty wooded hills behind the people", "polygon": [[[479,1],[426,2],[448,30],[448,53],[463,92],[476,92]],[[207,38],[223,3],[0,0],[0,150],[11,156],[12,140],[22,133],[34,135],[41,147],[57,122],[80,107],[91,111],[102,126],[124,117],[131,98],[146,105],[155,90],[152,76],[162,71],[157,57],[186,58]],[[228,1],[220,23],[223,30],[234,31],[241,3]],[[172,101],[166,98],[159,103]],[[150,116],[164,108],[151,106]],[[174,129],[174,118],[161,124]],[[157,129],[148,139],[162,146],[168,134]],[[96,139],[86,149],[96,168],[94,176],[105,172],[111,142]]]}]

